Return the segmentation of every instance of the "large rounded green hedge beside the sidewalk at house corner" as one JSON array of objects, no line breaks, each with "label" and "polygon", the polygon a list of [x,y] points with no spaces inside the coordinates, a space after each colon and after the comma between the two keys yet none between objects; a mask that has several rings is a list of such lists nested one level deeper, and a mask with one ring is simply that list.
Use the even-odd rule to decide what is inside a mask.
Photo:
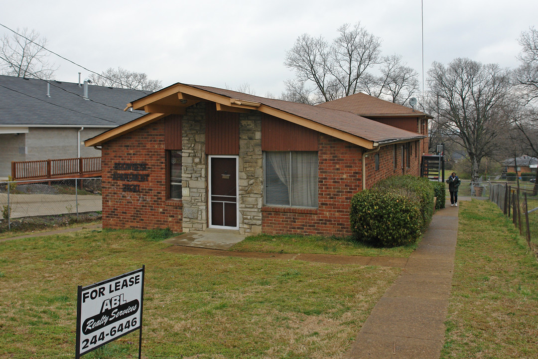
[{"label": "large rounded green hedge beside the sidewalk at house corner", "polygon": [[441,185],[412,175],[379,181],[351,199],[351,230],[357,240],[382,247],[414,243],[433,216],[434,192],[443,192],[444,207]]}]

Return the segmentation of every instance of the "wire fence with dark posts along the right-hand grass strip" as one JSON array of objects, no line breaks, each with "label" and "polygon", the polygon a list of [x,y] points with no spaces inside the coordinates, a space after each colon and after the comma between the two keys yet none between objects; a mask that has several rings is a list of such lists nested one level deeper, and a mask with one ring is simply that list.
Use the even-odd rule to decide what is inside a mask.
[{"label": "wire fence with dark posts along the right-hand grass strip", "polygon": [[532,196],[530,189],[508,184],[491,184],[490,187],[490,201],[512,219],[529,247],[538,249],[538,196]]}]

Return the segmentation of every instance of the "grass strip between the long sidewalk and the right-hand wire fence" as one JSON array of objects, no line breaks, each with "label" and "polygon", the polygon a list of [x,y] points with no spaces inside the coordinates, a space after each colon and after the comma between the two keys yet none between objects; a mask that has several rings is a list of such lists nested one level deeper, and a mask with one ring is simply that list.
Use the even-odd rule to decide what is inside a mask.
[{"label": "grass strip between the long sidewalk and the right-hand wire fence", "polygon": [[442,358],[538,357],[538,262],[490,202],[461,202]]}]

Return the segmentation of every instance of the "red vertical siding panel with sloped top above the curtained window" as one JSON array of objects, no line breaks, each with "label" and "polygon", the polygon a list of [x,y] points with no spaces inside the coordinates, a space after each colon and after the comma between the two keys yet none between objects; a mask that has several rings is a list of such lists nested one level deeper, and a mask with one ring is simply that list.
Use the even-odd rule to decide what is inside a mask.
[{"label": "red vertical siding panel with sloped top above the curtained window", "polygon": [[261,150],[317,151],[318,132],[277,117],[262,115]]}]

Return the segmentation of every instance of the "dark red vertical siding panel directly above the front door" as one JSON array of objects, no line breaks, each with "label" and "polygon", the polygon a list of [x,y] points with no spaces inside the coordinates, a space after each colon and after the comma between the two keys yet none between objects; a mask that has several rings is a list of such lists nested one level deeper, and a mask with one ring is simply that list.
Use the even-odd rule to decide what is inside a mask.
[{"label": "dark red vertical siding panel directly above the front door", "polygon": [[239,154],[239,114],[207,106],[206,153]]}]

